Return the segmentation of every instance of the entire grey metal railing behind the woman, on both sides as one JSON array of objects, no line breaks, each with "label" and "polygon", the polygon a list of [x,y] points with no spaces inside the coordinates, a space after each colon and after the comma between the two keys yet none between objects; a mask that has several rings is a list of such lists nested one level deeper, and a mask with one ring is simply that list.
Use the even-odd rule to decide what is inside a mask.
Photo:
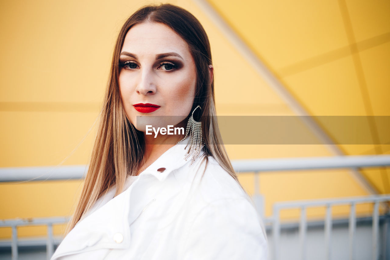
[{"label": "entire grey metal railing behind the woman, on both sides", "polygon": [[[284,208],[300,208],[301,218],[299,222],[300,230],[300,245],[301,259],[305,259],[306,232],[307,232],[307,217],[306,210],[308,207],[326,206],[325,217],[325,247],[327,258],[330,259],[330,241],[332,234],[332,206],[341,204],[351,205],[352,210],[349,216],[349,237],[350,237],[350,259],[353,259],[354,250],[354,235],[356,226],[356,210],[357,203],[373,202],[373,259],[377,254],[378,245],[378,217],[379,203],[389,201],[390,196],[370,196],[366,198],[347,198],[335,200],[319,200],[319,201],[300,201],[300,202],[283,202],[273,205],[273,216],[264,217],[264,198],[261,195],[259,187],[259,174],[264,171],[289,171],[289,170],[308,170],[308,169],[332,169],[332,168],[356,168],[356,167],[378,167],[390,166],[389,155],[369,155],[369,156],[335,156],[335,157],[310,157],[310,158],[288,158],[288,159],[261,159],[261,160],[235,160],[232,165],[238,173],[254,173],[254,195],[257,210],[264,223],[269,223],[273,230],[273,259],[278,260],[278,241],[280,234],[280,218],[279,212]],[[2,168],[0,169],[0,182],[15,182],[29,180],[69,180],[81,179],[86,172],[86,166],[62,166],[62,167],[20,167],[20,168]],[[67,217],[49,217],[42,219],[11,219],[1,222],[0,227],[12,228],[11,239],[11,254],[12,260],[18,258],[18,226],[29,225],[46,225],[48,238],[46,240],[46,255],[50,259],[53,254],[53,224],[63,224],[69,220]],[[1,246],[2,243],[0,243]],[[4,242],[3,242],[4,244]]]}]

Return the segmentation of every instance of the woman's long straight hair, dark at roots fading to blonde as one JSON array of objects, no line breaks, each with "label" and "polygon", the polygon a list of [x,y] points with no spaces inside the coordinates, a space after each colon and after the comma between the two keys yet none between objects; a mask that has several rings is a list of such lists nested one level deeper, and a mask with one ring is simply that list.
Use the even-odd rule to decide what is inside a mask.
[{"label": "woman's long straight hair, dark at roots fading to blonde", "polygon": [[202,108],[200,121],[204,133],[206,166],[207,157],[212,156],[239,183],[223,146],[216,120],[214,80],[210,80],[208,67],[212,64],[211,49],[204,28],[190,12],[181,7],[171,4],[147,5],[131,15],[119,32],[89,168],[66,233],[74,228],[110,187],[116,185],[115,196],[120,194],[126,177],[137,174],[138,165],[143,159],[144,135],[126,118],[118,83],[119,55],[124,38],[132,26],[143,22],[164,23],[188,43],[197,69],[196,94],[191,111],[197,105]]}]

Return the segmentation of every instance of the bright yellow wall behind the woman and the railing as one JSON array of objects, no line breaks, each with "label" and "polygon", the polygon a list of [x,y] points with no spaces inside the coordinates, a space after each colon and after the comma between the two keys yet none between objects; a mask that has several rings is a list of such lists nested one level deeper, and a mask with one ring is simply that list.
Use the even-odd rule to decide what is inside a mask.
[{"label": "bright yellow wall behind the woman and the railing", "polygon": [[[209,36],[219,115],[295,115],[195,2],[170,2],[193,13]],[[0,167],[89,163],[115,38],[128,16],[149,3],[0,3]],[[308,114],[390,115],[390,2],[209,3]],[[390,154],[390,145],[338,146],[347,155]],[[323,145],[226,147],[231,159],[334,155]],[[378,192],[390,193],[388,167],[362,173]],[[254,192],[253,175],[239,179]],[[266,215],[276,201],[367,195],[348,170],[262,173],[260,182]],[[0,185],[0,219],[12,219],[71,214],[82,181]],[[318,216],[321,210],[309,213]],[[0,230],[0,237],[10,232]],[[19,230],[21,236],[44,232],[42,227]]]}]

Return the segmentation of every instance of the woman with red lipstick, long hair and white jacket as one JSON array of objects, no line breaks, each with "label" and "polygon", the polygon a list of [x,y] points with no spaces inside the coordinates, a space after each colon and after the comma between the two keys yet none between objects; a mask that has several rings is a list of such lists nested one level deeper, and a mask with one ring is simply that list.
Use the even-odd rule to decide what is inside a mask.
[{"label": "woman with red lipstick, long hair and white jacket", "polygon": [[[211,64],[188,11],[150,5],[126,21],[82,194],[52,260],[267,258],[222,144]],[[148,132],[169,125],[187,131]]]}]

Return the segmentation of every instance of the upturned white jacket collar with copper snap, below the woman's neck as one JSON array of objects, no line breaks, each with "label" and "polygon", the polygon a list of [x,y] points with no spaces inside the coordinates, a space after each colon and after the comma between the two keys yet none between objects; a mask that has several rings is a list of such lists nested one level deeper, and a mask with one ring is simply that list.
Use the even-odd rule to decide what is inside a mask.
[{"label": "upturned white jacket collar with copper snap, below the woman's neck", "polygon": [[[188,151],[188,147],[185,150],[184,148],[188,144],[189,139],[189,136],[187,136],[186,139],[169,148],[139,175],[153,175],[158,180],[163,181],[172,171],[182,167],[186,163],[190,165],[191,157],[184,159],[184,156]],[[203,145],[201,145],[198,158],[204,153],[202,148]]]}]

